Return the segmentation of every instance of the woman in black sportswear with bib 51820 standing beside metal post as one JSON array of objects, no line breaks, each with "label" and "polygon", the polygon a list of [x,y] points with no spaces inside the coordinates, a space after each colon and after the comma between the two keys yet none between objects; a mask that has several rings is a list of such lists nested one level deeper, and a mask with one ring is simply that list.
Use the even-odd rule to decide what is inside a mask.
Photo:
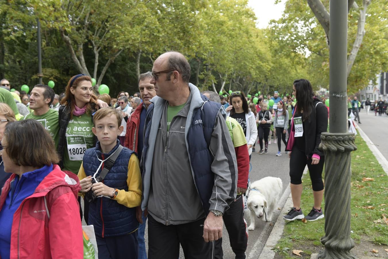
[{"label": "woman in black sportswear with bib 51820 standing beside metal post", "polygon": [[301,177],[307,165],[312,182],[314,206],[305,218],[314,221],[324,217],[320,206],[324,189],[322,181],[324,153],[318,146],[320,134],[327,130],[327,108],[322,100],[314,95],[312,85],[306,79],[294,81],[293,94],[298,102],[295,105],[291,134],[286,145],[286,151],[291,151],[289,174],[293,208],[284,219],[293,221],[305,217],[300,208],[300,199],[303,189]]}]

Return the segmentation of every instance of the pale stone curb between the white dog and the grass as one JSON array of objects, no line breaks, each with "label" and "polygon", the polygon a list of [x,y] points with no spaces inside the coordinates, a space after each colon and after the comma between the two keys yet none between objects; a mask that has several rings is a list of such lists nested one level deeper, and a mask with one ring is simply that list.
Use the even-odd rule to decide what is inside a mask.
[{"label": "pale stone curb between the white dog and the grass", "polygon": [[[307,174],[307,170],[308,169],[306,166],[305,170],[303,171],[303,176],[305,174]],[[267,242],[265,243],[264,248],[263,248],[262,252],[260,253],[260,256],[259,257],[251,257],[251,254],[249,254],[248,258],[273,259],[275,257],[276,253],[272,249],[274,247],[276,247],[277,242],[280,240],[280,238],[283,235],[284,226],[286,226],[286,224],[287,224],[287,222],[283,219],[283,216],[288,213],[288,210],[293,205],[290,185],[287,186],[286,190],[284,191],[284,193],[282,195],[281,200],[284,200],[284,199],[286,199],[286,203],[284,203],[283,209],[280,212],[279,216],[277,217],[274,228],[272,228],[272,231],[271,231],[270,235],[268,236]],[[256,243],[259,241],[260,240],[256,241]],[[255,246],[256,246],[256,244],[255,244]]]}]

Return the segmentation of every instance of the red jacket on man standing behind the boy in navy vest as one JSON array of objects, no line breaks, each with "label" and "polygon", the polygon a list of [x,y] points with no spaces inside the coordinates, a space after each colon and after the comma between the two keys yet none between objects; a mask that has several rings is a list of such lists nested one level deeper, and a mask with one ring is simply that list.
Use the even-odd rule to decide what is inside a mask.
[{"label": "red jacket on man standing behind the boy in navy vest", "polygon": [[137,134],[139,132],[139,124],[140,124],[140,113],[143,109],[143,103],[140,103],[139,106],[131,113],[128,121],[126,122],[126,133],[125,133],[125,141],[124,146],[129,148],[137,153]]}]

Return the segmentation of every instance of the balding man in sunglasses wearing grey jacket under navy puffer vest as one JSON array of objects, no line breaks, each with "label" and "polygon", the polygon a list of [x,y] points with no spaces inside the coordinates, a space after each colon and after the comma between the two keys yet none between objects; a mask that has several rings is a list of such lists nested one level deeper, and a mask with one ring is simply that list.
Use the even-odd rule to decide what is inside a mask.
[{"label": "balding man in sunglasses wearing grey jacket under navy puffer vest", "polygon": [[[223,212],[236,197],[236,154],[225,110],[220,104],[206,103],[189,83],[190,65],[178,52],[159,56],[152,75],[157,96],[147,110],[142,156],[148,257],[178,258],[180,244],[185,258],[213,259],[214,240],[222,237]],[[209,107],[218,107],[211,119],[210,143],[197,151],[199,143],[207,143],[209,124],[196,116]],[[201,124],[203,128],[198,127]]]}]

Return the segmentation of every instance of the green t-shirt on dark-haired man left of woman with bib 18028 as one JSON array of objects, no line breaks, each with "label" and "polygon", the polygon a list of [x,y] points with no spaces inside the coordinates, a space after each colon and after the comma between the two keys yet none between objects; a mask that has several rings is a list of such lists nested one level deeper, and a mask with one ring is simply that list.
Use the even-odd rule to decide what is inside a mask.
[{"label": "green t-shirt on dark-haired man left of woman with bib 18028", "polygon": [[58,111],[55,111],[53,109],[49,109],[47,113],[43,115],[36,116],[33,112],[27,114],[20,120],[27,120],[27,119],[33,119],[37,120],[38,122],[42,123],[43,127],[49,131],[52,139],[54,139],[55,148],[58,147],[58,141],[59,141],[59,123],[58,123]]}]

